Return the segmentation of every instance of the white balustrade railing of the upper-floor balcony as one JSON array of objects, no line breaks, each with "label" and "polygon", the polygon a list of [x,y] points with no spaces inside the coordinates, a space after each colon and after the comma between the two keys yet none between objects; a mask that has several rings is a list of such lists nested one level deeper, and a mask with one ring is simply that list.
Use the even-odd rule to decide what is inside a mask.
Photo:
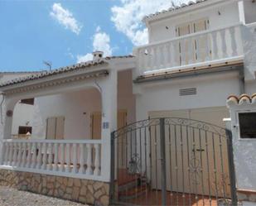
[{"label": "white balustrade railing of the upper-floor balcony", "polygon": [[236,24],[139,46],[134,50],[138,56],[138,75],[243,60],[241,27]]}]

